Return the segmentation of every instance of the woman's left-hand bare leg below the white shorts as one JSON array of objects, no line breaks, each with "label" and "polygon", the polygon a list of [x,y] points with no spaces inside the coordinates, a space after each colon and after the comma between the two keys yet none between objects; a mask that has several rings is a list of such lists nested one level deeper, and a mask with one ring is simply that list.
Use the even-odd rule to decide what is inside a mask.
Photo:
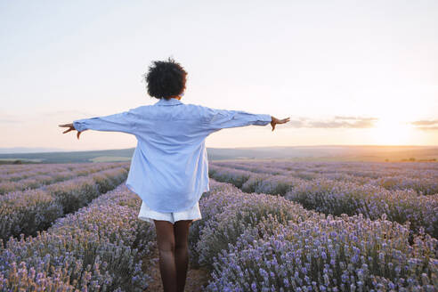
[{"label": "woman's left-hand bare leg below the white shorts", "polygon": [[159,272],[164,292],[177,292],[174,263],[174,225],[164,220],[154,220],[159,252]]}]

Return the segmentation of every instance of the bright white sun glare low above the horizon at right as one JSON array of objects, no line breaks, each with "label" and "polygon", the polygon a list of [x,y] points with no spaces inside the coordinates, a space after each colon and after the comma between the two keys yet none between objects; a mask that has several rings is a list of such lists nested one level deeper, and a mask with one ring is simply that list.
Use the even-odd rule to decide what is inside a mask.
[{"label": "bright white sun glare low above the horizon at right", "polygon": [[414,127],[406,121],[395,118],[380,118],[371,131],[374,141],[381,145],[414,144]]}]

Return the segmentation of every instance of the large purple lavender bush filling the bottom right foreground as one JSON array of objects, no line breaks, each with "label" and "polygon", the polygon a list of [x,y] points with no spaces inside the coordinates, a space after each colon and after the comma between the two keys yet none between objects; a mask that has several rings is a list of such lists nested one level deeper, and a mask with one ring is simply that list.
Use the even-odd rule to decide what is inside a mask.
[{"label": "large purple lavender bush filling the bottom right foreground", "polygon": [[[264,219],[255,230],[266,229]],[[207,291],[435,291],[437,240],[385,218],[311,217],[277,224],[269,238],[244,231],[214,263]]]}]

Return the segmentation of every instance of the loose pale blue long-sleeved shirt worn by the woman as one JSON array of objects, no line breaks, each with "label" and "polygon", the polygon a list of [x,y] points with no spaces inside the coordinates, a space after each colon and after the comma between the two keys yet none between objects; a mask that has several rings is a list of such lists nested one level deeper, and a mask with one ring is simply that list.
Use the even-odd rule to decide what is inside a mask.
[{"label": "loose pale blue long-sleeved shirt worn by the woman", "polygon": [[216,110],[171,98],[118,114],[73,121],[85,129],[134,134],[137,147],[126,187],[158,212],[193,207],[208,186],[205,141],[223,128],[271,123],[270,115]]}]

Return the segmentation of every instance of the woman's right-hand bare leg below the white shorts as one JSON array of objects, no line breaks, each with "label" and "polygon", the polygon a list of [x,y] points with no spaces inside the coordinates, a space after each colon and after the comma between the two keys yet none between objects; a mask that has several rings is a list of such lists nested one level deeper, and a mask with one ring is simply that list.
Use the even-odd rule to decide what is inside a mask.
[{"label": "woman's right-hand bare leg below the white shorts", "polygon": [[176,264],[177,292],[184,292],[185,280],[187,278],[187,267],[189,265],[189,227],[192,220],[180,220],[174,223],[174,260]]}]

